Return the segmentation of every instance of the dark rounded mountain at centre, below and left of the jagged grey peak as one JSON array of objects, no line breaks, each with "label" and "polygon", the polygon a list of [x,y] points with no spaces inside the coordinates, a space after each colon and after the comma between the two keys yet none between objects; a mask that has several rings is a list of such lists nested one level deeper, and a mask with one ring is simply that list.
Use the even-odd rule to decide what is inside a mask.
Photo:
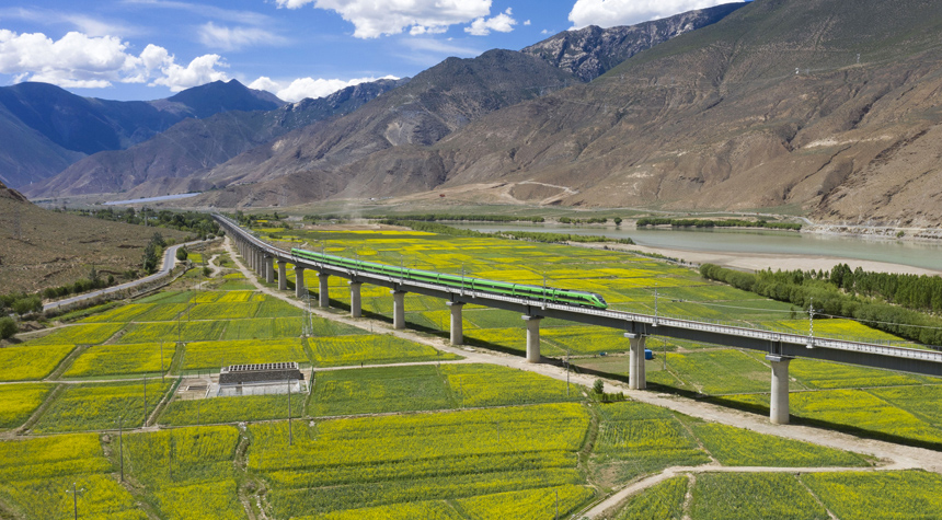
[{"label": "dark rounded mountain at centre, below and left of the jagged grey peak", "polygon": [[541,89],[573,82],[568,72],[513,50],[448,58],[353,114],[295,130],[212,169],[202,178],[229,187],[193,201],[232,207],[324,198],[346,186],[354,164],[376,174],[376,193],[430,189],[444,182],[446,167],[430,154],[392,163],[370,158],[390,149],[423,150],[472,120],[537,97]]}]

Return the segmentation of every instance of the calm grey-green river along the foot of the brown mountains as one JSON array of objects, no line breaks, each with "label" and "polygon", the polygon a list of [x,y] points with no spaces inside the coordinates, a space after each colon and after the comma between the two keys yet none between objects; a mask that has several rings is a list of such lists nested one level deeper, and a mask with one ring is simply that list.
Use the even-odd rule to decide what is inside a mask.
[{"label": "calm grey-green river along the foot of the brown mountains", "polygon": [[942,270],[942,244],[794,231],[735,229],[613,229],[527,223],[449,223],[455,228],[493,233],[497,231],[545,231],[579,235],[632,239],[637,245],[711,253],[800,255],[903,264]]}]

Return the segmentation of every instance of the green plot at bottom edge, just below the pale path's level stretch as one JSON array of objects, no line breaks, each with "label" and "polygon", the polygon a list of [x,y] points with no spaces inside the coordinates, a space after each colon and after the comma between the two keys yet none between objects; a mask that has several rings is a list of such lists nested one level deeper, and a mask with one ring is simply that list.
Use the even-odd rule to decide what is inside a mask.
[{"label": "green plot at bottom edge, just below the pale path's level stretch", "polygon": [[[828,520],[827,511],[792,474],[697,475],[693,520]],[[843,517],[841,517],[843,518]]]}]

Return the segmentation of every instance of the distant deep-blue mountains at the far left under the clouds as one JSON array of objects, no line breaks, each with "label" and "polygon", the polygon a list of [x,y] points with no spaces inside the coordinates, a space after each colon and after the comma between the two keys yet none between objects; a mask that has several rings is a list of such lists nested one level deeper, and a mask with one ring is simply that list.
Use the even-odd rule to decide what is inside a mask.
[{"label": "distant deep-blue mountains at the far left under the clouds", "polygon": [[150,139],[186,117],[269,111],[284,103],[236,80],[151,102],[81,97],[47,83],[0,88],[0,180],[15,187],[50,177],[84,155]]}]

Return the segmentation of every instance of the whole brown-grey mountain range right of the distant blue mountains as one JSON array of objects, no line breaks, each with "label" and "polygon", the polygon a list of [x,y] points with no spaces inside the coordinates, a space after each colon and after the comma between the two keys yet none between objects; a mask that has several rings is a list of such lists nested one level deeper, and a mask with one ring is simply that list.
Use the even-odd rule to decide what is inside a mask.
[{"label": "whole brown-grey mountain range right of the distant blue mountains", "polygon": [[186,204],[204,207],[450,193],[934,226],[940,26],[922,0],[756,0],[586,27],[449,58],[296,123],[272,114],[297,104],[177,123],[23,190],[199,189]]}]

